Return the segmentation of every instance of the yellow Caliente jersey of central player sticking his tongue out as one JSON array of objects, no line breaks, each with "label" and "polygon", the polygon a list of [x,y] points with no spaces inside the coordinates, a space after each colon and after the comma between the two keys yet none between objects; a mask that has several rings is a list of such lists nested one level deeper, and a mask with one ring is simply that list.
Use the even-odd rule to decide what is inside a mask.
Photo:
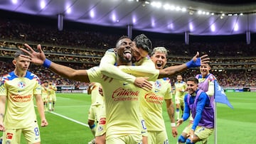
[{"label": "yellow Caliente jersey of central player sticking his tongue out", "polygon": [[90,82],[99,82],[105,96],[106,140],[129,134],[142,135],[139,97],[144,91],[134,84],[113,79],[105,82],[99,67],[87,70]]}]

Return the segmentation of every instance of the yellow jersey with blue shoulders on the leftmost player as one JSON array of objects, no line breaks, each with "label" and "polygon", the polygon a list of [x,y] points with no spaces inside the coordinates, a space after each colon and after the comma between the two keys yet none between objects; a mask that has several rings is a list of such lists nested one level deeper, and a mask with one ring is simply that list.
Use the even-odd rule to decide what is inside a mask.
[{"label": "yellow jersey with blue shoulders on the leftmost player", "polygon": [[27,128],[36,120],[33,97],[41,94],[39,78],[26,72],[25,77],[17,77],[14,72],[6,74],[1,80],[0,96],[6,96],[6,128]]}]

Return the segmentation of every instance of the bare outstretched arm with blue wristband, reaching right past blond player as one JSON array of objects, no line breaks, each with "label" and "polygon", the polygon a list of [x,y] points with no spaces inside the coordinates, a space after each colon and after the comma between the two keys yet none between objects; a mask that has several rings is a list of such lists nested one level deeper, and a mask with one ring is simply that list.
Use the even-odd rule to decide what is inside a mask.
[{"label": "bare outstretched arm with blue wristband, reaching right past blond player", "polygon": [[171,77],[172,75],[177,74],[178,72],[182,72],[183,70],[186,70],[188,68],[206,65],[208,62],[210,62],[210,58],[208,57],[208,55],[203,55],[199,57],[199,52],[196,52],[196,55],[192,58],[191,61],[181,65],[166,67],[163,70],[160,70],[159,78]]}]

